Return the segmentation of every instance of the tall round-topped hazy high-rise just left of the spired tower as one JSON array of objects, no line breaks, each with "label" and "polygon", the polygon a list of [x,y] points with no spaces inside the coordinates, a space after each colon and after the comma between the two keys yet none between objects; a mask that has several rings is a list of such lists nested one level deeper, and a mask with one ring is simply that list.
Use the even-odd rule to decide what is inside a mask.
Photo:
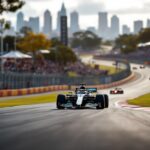
[{"label": "tall round-topped hazy high-rise just left of the spired tower", "polygon": [[51,37],[52,34],[52,16],[49,10],[44,12],[44,26],[43,33],[47,35],[47,37]]}]

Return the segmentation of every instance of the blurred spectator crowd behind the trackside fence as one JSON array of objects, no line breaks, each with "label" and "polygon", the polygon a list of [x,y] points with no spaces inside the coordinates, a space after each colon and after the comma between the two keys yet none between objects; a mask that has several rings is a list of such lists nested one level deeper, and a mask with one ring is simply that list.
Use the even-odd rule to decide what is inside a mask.
[{"label": "blurred spectator crowd behind the trackside fence", "polygon": [[91,67],[81,61],[76,63],[68,63],[63,66],[49,60],[36,60],[32,59],[7,59],[4,62],[5,72],[18,72],[18,73],[35,73],[35,74],[59,74],[65,75],[68,72],[75,72],[77,75],[106,75],[106,70],[100,70],[98,67]]}]

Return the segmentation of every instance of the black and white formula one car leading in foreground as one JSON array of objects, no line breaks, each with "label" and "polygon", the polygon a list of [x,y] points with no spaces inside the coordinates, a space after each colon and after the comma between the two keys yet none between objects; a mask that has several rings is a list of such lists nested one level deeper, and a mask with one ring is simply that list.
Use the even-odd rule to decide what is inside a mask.
[{"label": "black and white formula one car leading in foreground", "polygon": [[96,107],[96,109],[108,108],[109,98],[106,94],[97,94],[97,88],[85,88],[82,84],[74,93],[57,96],[56,106],[64,108]]}]

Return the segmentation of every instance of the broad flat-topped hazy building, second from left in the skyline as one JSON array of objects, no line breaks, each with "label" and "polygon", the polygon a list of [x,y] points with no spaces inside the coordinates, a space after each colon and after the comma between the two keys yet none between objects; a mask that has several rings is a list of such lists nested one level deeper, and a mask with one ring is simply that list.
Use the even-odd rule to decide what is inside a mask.
[{"label": "broad flat-topped hazy building, second from left in the skyline", "polygon": [[39,17],[30,17],[29,27],[32,29],[34,33],[39,33],[40,32]]}]

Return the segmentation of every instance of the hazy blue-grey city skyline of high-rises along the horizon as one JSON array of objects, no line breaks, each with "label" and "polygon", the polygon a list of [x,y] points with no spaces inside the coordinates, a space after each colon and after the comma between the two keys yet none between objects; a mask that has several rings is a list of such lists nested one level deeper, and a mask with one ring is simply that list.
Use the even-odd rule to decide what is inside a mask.
[{"label": "hazy blue-grey city skyline of high-rises along the horizon", "polygon": [[[65,7],[64,4],[62,4],[62,7]],[[17,14],[17,21],[16,21],[16,31],[19,32],[19,30],[22,27],[30,27],[33,32],[35,33],[44,33],[47,37],[53,38],[53,37],[59,37],[60,36],[60,19],[61,15],[67,14],[67,10],[64,8],[64,11],[59,10],[58,11],[58,17],[57,17],[57,28],[53,28],[52,26],[52,20],[53,16],[51,16],[51,12],[49,10],[45,10],[43,14],[44,18],[44,24],[43,27],[40,27],[40,19],[39,17],[29,17],[28,19],[24,19],[24,14],[22,12],[19,12]],[[79,22],[79,14],[77,11],[73,11],[70,13],[70,16],[66,16],[67,20],[70,17],[70,26],[67,23],[68,27],[68,34],[69,37],[72,37],[74,32],[78,31],[84,31],[80,29],[80,22]],[[103,39],[115,39],[118,37],[119,34],[137,34],[142,28],[143,28],[143,21],[141,20],[135,20],[133,22],[134,24],[134,30],[131,31],[131,29],[128,27],[128,25],[120,25],[120,19],[117,15],[113,15],[110,18],[110,25],[108,25],[108,13],[107,12],[99,12],[98,13],[98,27],[89,26],[86,30],[92,31],[93,33],[97,34],[99,37]],[[139,23],[140,22],[140,23]],[[147,27],[149,27],[150,20],[147,20]],[[142,24],[142,25],[139,25]],[[73,31],[74,30],[74,31]],[[136,30],[136,31],[135,31]],[[15,31],[14,28],[11,28],[11,31],[8,31],[6,33],[9,33],[10,35],[14,35]]]}]

